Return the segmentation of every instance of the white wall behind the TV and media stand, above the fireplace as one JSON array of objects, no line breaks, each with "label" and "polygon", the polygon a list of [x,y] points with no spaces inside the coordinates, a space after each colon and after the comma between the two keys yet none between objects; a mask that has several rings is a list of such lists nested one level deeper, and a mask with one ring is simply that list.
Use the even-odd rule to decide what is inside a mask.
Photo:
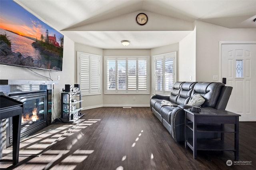
[{"label": "white wall behind the TV and media stand, above the fireplace", "polygon": [[[54,111],[52,116],[54,119],[60,116],[60,90],[65,87],[65,84],[74,84],[74,42],[68,37],[64,36],[64,51],[63,51],[63,71],[50,71],[50,76],[53,81],[60,80],[58,84],[54,85]],[[32,69],[36,73],[49,77],[49,72],[42,69]],[[41,77],[26,67],[16,67],[9,65],[0,65],[1,79],[15,79],[15,80],[45,80],[51,81],[45,77]]]}]

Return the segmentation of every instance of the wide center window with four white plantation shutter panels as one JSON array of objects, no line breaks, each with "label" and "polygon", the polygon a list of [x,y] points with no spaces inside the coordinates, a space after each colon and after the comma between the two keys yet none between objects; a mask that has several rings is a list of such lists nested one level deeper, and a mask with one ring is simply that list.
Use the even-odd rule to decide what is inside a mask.
[{"label": "wide center window with four white plantation shutter panels", "polygon": [[149,94],[149,56],[105,57],[105,93]]}]

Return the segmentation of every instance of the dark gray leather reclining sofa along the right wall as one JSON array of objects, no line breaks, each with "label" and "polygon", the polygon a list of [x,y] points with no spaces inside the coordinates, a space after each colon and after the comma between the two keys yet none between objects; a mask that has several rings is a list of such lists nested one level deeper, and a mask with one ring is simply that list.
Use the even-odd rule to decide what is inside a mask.
[{"label": "dark gray leather reclining sofa along the right wall", "polygon": [[[152,95],[150,109],[174,140],[180,142],[184,141],[184,109],[192,107],[186,104],[194,95],[200,94],[205,99],[202,109],[225,110],[231,91],[232,87],[219,82],[176,82],[170,95]],[[205,135],[201,138],[218,138],[216,133]]]}]

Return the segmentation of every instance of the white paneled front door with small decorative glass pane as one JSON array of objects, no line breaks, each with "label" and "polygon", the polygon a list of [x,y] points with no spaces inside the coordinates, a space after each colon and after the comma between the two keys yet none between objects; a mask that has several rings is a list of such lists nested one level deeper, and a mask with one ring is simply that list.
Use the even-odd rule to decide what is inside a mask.
[{"label": "white paneled front door with small decorative glass pane", "polygon": [[221,77],[233,90],[227,111],[256,121],[256,43],[220,43]]}]

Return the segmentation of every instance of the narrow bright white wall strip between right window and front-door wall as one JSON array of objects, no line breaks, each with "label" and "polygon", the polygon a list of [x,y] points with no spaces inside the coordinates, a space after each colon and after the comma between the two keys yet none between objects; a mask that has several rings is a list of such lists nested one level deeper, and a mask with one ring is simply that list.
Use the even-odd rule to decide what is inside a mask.
[{"label": "narrow bright white wall strip between right window and front-door wall", "polygon": [[178,81],[196,81],[196,28],[180,41],[179,48]]}]

